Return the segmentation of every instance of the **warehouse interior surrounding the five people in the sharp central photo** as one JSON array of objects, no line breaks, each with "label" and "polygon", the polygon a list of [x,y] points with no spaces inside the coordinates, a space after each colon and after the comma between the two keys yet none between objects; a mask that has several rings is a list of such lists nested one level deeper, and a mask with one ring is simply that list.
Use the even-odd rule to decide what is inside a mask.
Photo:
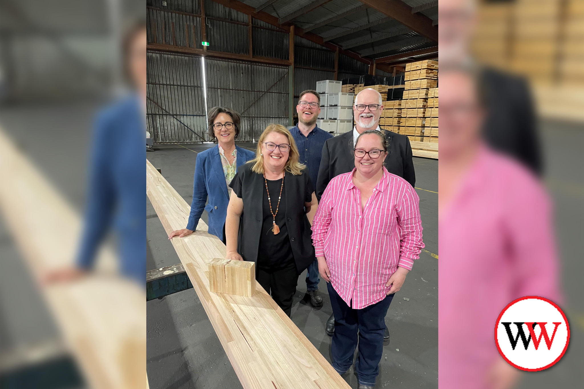
[{"label": "warehouse interior surrounding the five people in the sharp central photo", "polygon": [[[434,388],[437,1],[395,3],[399,6],[356,0],[149,0],[147,126],[155,152],[147,158],[190,205],[197,154],[215,145],[207,137],[206,109],[225,106],[241,114],[237,145],[255,151],[267,124],[298,122],[296,105],[303,90],[320,93],[322,117],[317,125],[335,136],[352,131],[354,96],[366,87],[378,90],[388,108],[380,126],[408,135],[412,148],[420,145],[414,154],[425,156],[413,157],[413,163],[426,244],[388,311],[391,340],[384,346],[378,387]],[[432,105],[427,107],[428,100]],[[413,106],[406,107],[406,101]],[[406,118],[406,111],[411,117]],[[432,142],[430,121],[435,122]],[[176,274],[179,257],[151,202],[147,204],[150,387],[242,387],[184,270],[182,276]],[[202,219],[207,222],[206,212]],[[172,276],[172,288],[170,280],[162,288],[159,280],[165,273]],[[314,308],[307,299],[305,277],[303,272],[298,278],[291,319],[331,362],[332,338],[326,335],[325,322],[332,309],[326,283],[321,278],[324,305]],[[175,290],[181,291],[168,294]],[[353,368],[345,380],[357,386]]]}]

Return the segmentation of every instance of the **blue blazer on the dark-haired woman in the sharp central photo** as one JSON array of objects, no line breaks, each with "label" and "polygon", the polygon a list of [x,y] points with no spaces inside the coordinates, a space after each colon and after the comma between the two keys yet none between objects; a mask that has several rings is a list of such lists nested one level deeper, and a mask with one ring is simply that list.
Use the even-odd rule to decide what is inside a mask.
[{"label": "blue blazer on the dark-haired woman in the sharp central photo", "polygon": [[[237,149],[237,167],[255,158],[255,153],[235,146]],[[196,230],[203,209],[209,215],[209,233],[223,240],[223,226],[227,218],[229,192],[223,173],[223,164],[219,155],[219,145],[197,154],[194,165],[193,202],[190,205],[187,229]],[[208,204],[205,206],[205,202]]]}]

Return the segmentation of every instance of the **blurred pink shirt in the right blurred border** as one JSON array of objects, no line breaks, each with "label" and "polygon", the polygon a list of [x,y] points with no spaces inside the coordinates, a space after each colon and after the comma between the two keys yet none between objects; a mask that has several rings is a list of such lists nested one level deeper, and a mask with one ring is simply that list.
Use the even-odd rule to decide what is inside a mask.
[{"label": "blurred pink shirt in the right blurred border", "polygon": [[440,389],[485,389],[495,323],[522,296],[558,302],[550,202],[509,158],[481,149],[439,219]]}]

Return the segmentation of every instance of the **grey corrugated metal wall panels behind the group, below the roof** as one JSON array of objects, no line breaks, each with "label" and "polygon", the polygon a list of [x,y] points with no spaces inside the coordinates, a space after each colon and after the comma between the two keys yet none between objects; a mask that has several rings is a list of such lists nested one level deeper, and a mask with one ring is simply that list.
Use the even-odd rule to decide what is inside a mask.
[{"label": "grey corrugated metal wall panels behind the group, below the roof", "polygon": [[[148,9],[148,42],[201,48],[199,0],[172,0],[165,7],[161,0],[148,0],[148,5],[162,9]],[[210,50],[249,54],[248,15],[211,0],[205,0],[205,15]],[[255,57],[288,59],[288,44],[287,31],[252,18]],[[288,66],[211,57],[205,63],[207,108],[225,106],[242,114],[239,141],[258,139],[272,122],[288,123]],[[334,78],[335,52],[295,37],[294,65],[297,103],[303,90]],[[367,64],[339,55],[338,79],[367,70]],[[148,101],[147,114],[155,143],[207,141],[202,86],[201,57],[149,52],[148,97],[156,104]]]}]

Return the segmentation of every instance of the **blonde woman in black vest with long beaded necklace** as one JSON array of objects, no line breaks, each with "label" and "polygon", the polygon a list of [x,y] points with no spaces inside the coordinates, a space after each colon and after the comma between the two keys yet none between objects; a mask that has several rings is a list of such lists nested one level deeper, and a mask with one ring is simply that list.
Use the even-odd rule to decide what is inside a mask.
[{"label": "blonde woman in black vest with long beaded necklace", "polygon": [[256,280],[290,316],[298,276],[314,261],[311,225],[317,197],[290,131],[270,124],[255,159],[231,181],[227,259],[256,262]]}]

